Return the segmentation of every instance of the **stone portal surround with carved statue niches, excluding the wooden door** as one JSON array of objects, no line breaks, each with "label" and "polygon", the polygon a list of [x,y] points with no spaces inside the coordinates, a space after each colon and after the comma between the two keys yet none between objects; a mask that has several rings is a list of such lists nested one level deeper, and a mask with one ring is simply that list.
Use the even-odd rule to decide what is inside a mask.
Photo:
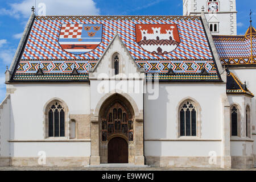
[{"label": "stone portal surround with carved statue niches, excluding the wooden door", "polygon": [[[91,115],[92,154],[90,164],[108,163],[108,142],[114,137],[121,137],[128,143],[128,162],[143,165],[143,110],[138,110],[130,96],[126,98],[121,93],[107,95],[109,96],[102,97],[95,113]],[[114,109],[117,110],[116,117],[114,116]],[[112,115],[112,122],[110,115]],[[126,121],[123,121],[124,115],[126,115]]]}]

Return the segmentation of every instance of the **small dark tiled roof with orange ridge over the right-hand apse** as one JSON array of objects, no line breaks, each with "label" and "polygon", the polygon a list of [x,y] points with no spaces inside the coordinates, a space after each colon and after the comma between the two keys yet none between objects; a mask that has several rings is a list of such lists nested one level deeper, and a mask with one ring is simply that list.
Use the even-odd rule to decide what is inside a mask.
[{"label": "small dark tiled roof with orange ridge over the right-hand apse", "polygon": [[230,72],[226,69],[227,72],[227,82],[226,82],[226,93],[228,94],[247,94],[251,97],[254,97],[253,93],[247,89],[246,82],[242,84],[242,82],[238,79],[234,73]]}]

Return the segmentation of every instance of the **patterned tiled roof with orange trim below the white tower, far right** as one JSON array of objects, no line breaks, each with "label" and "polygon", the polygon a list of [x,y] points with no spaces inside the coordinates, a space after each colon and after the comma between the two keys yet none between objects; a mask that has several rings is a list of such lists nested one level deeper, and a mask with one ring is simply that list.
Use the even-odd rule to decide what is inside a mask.
[{"label": "patterned tiled roof with orange trim below the white tower, far right", "polygon": [[243,36],[214,35],[222,65],[248,66],[256,64],[256,30],[250,26]]}]

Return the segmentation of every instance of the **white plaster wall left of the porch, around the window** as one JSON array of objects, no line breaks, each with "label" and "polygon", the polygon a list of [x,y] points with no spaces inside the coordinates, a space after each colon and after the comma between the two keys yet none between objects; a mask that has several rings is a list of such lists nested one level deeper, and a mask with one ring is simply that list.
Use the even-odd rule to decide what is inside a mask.
[{"label": "white plaster wall left of the porch, around the window", "polygon": [[[90,114],[89,83],[33,83],[8,87],[15,90],[11,94],[10,139],[24,141],[11,142],[11,156],[36,156],[40,150],[46,151],[49,156],[90,155],[89,141],[33,142],[44,140],[44,106],[53,98],[65,102],[68,115]],[[65,119],[69,122],[69,117]],[[68,140],[67,136],[55,139]]]}]

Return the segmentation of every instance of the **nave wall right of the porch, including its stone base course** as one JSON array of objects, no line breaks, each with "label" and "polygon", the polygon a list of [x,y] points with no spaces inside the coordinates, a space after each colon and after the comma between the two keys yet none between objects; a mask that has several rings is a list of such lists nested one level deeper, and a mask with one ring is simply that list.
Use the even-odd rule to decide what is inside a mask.
[{"label": "nave wall right of the porch, including its stone base course", "polygon": [[[224,155],[221,98],[225,92],[225,84],[159,84],[157,100],[148,100],[146,94],[146,163],[159,162],[164,167],[221,167],[221,156]],[[181,135],[180,109],[185,101],[196,108],[194,135]],[[212,155],[216,156],[216,163],[209,164]]]}]

